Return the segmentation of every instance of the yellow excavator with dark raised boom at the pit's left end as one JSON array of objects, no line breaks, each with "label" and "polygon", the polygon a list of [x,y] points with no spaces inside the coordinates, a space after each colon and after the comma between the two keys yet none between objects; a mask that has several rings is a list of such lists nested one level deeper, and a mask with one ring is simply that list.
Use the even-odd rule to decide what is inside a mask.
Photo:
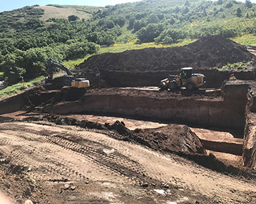
[{"label": "yellow excavator with dark raised boom at the pit's left end", "polygon": [[64,77],[63,87],[61,89],[61,95],[64,99],[68,100],[71,98],[78,98],[86,92],[86,87],[90,86],[89,80],[85,78],[76,78],[72,75],[71,70],[69,70],[65,65],[58,63],[56,60],[48,59],[48,77],[45,80],[46,89],[51,89],[53,85],[53,68],[60,68],[65,71],[66,76]]}]

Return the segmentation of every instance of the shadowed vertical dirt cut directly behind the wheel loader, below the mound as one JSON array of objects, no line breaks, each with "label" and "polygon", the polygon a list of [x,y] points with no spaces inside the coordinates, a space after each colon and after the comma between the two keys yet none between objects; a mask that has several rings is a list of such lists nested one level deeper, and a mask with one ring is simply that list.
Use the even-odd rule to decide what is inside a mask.
[{"label": "shadowed vertical dirt cut directly behind the wheel loader, below the mound", "polygon": [[[121,72],[121,71],[101,71],[100,77],[96,74],[88,73],[86,77],[90,80],[93,87],[149,87],[158,86],[160,80],[165,79],[168,75],[178,75],[179,70],[168,71],[161,70],[155,72]],[[230,78],[232,72],[221,72],[216,69],[198,69],[194,73],[205,75],[205,85],[203,88],[221,87],[225,80]],[[85,75],[83,75],[85,77]],[[255,80],[255,71],[235,72],[237,80]]]}]

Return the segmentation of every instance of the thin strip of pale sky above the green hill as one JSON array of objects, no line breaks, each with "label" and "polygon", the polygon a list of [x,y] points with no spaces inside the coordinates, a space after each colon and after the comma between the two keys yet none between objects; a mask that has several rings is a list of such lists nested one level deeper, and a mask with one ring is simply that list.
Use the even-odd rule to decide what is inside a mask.
[{"label": "thin strip of pale sky above the green hill", "polygon": [[[0,0],[0,12],[11,11],[13,9],[20,9],[24,6],[33,6],[39,4],[46,6],[47,4],[60,4],[60,5],[79,5],[79,6],[106,6],[116,5],[141,0]],[[171,1],[171,0],[170,0]],[[245,0],[237,0],[245,2]],[[256,0],[251,0],[256,3]]]}]

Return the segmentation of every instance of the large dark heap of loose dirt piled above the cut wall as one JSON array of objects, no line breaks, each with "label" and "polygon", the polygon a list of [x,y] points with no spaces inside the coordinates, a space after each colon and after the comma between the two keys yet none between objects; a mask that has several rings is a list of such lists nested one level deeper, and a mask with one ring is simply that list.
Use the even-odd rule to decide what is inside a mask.
[{"label": "large dark heap of loose dirt piled above the cut wall", "polygon": [[94,55],[78,65],[76,74],[92,80],[90,77],[93,75],[104,76],[108,72],[159,72],[183,67],[220,68],[227,63],[250,60],[255,60],[255,55],[252,55],[245,46],[221,36],[207,36],[180,47],[145,48]]}]

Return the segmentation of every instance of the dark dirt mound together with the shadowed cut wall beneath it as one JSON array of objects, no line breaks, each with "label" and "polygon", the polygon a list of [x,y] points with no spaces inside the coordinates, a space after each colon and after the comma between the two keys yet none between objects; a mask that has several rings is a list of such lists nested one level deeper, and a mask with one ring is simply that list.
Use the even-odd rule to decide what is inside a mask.
[{"label": "dark dirt mound together with the shadowed cut wall beneath it", "polygon": [[[245,46],[221,36],[208,36],[195,43],[175,48],[145,48],[94,55],[78,65],[76,75],[88,77],[96,87],[150,86],[159,85],[160,80],[170,72],[174,74],[180,68],[193,67],[200,73],[205,70],[208,81],[206,87],[220,87],[230,73],[222,75],[217,70],[209,73],[209,69],[251,60],[255,61],[255,55]],[[250,74],[237,73],[239,78],[245,78],[245,75],[250,79],[252,75],[255,77],[254,71]],[[219,78],[220,82],[216,82]],[[213,81],[213,85],[210,81]]]}]

